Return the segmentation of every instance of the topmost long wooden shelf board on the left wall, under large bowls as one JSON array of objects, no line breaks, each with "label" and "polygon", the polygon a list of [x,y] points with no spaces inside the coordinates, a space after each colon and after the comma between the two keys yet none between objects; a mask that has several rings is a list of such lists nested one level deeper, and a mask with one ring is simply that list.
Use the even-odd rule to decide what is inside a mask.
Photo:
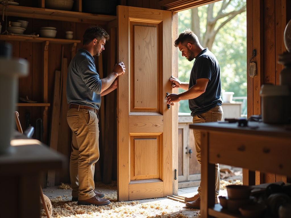
[{"label": "topmost long wooden shelf board on the left wall, under large bowls", "polygon": [[[0,15],[3,14],[3,5],[0,4]],[[6,15],[6,11],[4,12]],[[48,19],[78,23],[96,23],[101,21],[101,24],[107,24],[109,21],[115,20],[116,16],[98,15],[75,11],[53,10],[47,8],[32,8],[24,6],[7,6],[7,15],[14,17],[28,17],[36,19]],[[100,22],[98,22],[100,23]]]}]

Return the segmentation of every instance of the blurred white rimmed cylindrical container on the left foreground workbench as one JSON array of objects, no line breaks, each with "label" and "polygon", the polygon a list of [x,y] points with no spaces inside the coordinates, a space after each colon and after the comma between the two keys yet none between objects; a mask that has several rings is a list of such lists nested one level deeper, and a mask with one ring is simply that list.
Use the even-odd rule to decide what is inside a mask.
[{"label": "blurred white rimmed cylindrical container on the left foreground workbench", "polygon": [[15,120],[13,112],[18,96],[18,77],[27,76],[29,63],[25,59],[0,58],[0,153],[9,151]]}]

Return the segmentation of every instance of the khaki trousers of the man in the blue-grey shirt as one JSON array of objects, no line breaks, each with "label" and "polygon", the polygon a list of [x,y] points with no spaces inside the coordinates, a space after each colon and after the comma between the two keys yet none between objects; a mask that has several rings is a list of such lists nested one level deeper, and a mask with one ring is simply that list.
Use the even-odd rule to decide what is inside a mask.
[{"label": "khaki trousers of the man in the blue-grey shirt", "polygon": [[70,157],[72,197],[90,199],[95,196],[94,172],[99,159],[98,115],[92,110],[70,108],[67,121],[73,131]]}]

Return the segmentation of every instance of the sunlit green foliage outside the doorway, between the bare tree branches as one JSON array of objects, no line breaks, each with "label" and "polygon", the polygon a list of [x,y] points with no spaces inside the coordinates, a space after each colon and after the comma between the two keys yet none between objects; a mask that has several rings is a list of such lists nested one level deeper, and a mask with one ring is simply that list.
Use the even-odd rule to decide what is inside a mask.
[{"label": "sunlit green foliage outside the doorway, between the bare tree branches", "polygon": [[[246,4],[246,0],[232,0],[224,13],[238,10]],[[214,3],[213,16],[220,10],[222,1]],[[200,18],[201,40],[206,31],[207,5],[198,7]],[[191,29],[191,9],[178,12],[178,28],[181,33],[185,28]],[[215,29],[225,20],[219,19]],[[227,22],[215,36],[212,53],[216,56],[221,69],[221,87],[227,92],[234,92],[234,97],[246,96],[246,12],[243,12]],[[193,62],[178,55],[178,76],[180,81],[189,82]],[[184,90],[179,89],[179,93]],[[180,101],[179,112],[190,112],[188,100]]]}]

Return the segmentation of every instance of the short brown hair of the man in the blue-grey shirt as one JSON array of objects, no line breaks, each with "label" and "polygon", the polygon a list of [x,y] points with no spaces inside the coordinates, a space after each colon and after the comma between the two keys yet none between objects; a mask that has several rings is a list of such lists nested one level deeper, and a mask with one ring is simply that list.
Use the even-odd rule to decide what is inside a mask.
[{"label": "short brown hair of the man in the blue-grey shirt", "polygon": [[83,35],[83,45],[90,44],[94,39],[97,39],[99,42],[103,38],[107,41],[110,38],[109,34],[104,29],[99,26],[89,26]]}]

